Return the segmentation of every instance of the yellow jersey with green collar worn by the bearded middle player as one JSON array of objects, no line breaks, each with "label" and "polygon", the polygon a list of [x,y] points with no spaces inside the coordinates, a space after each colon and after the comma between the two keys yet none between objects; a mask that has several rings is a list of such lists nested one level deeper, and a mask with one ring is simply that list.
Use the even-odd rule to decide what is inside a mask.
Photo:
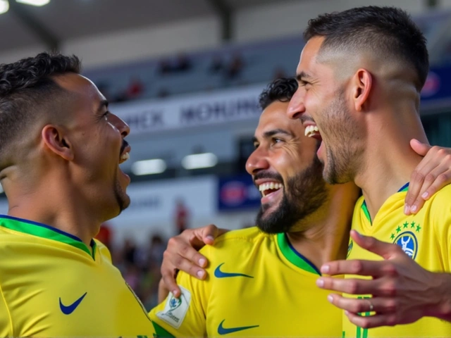
[{"label": "yellow jersey with green collar worn by the bearded middle player", "polygon": [[341,311],[285,234],[231,231],[202,254],[206,280],[180,271],[183,295],[151,311],[159,337],[341,337]]}]

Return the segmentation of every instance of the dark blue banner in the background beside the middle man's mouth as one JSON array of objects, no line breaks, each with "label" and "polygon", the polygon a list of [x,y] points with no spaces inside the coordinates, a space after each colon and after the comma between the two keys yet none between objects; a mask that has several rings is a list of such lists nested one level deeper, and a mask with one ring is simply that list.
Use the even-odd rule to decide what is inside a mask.
[{"label": "dark blue banner in the background beside the middle man's mouth", "polygon": [[218,180],[218,211],[259,208],[261,194],[251,175],[221,177]]}]

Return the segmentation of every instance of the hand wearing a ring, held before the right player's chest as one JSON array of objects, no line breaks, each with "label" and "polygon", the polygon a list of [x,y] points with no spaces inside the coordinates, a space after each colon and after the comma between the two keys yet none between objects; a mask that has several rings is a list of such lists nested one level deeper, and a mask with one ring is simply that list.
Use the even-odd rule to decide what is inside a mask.
[{"label": "hand wearing a ring, held before the right player's chest", "polygon": [[[371,276],[373,279],[320,277],[316,284],[335,292],[373,296],[370,299],[346,298],[339,294],[328,296],[330,303],[345,310],[354,325],[364,328],[391,326],[413,323],[424,315],[439,316],[445,304],[442,277],[449,277],[448,274],[431,273],[421,268],[397,244],[362,236],[354,230],[351,237],[354,244],[382,256],[383,261],[333,261],[324,264],[321,273]],[[373,315],[359,315],[373,311]]]}]

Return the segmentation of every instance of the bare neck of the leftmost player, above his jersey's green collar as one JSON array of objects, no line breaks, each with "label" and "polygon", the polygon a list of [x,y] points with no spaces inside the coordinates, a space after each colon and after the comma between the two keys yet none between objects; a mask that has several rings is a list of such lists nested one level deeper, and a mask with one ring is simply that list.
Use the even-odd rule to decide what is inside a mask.
[{"label": "bare neck of the leftmost player, above his jersey's green collar", "polygon": [[61,184],[67,182],[61,177],[37,180],[35,182],[42,182],[42,186],[34,189],[18,187],[20,184],[16,182],[14,190],[11,190],[8,189],[8,178],[4,180],[8,196],[8,215],[50,225],[80,238],[90,247],[91,240],[99,231],[102,222],[95,220],[92,208],[79,198],[78,189]]}]

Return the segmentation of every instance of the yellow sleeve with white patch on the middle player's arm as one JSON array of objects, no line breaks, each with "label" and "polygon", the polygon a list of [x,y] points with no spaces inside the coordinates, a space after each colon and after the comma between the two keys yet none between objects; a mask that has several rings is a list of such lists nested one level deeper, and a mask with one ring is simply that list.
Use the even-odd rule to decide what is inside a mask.
[{"label": "yellow sleeve with white patch on the middle player's arm", "polygon": [[[210,258],[210,246],[204,246],[200,251]],[[209,265],[211,267],[211,264]],[[177,284],[182,290],[180,299],[172,293],[152,309],[149,313],[158,337],[206,337],[206,308],[211,292],[213,271],[206,268],[206,280],[198,280],[180,271]]]}]

